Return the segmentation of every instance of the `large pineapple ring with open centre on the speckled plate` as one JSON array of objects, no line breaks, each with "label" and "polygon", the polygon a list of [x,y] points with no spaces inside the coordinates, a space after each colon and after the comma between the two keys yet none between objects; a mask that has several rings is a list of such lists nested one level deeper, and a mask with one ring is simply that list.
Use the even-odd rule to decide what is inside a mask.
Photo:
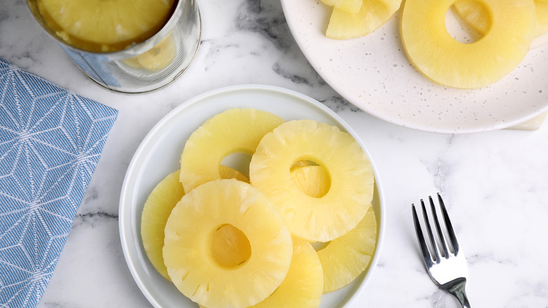
[{"label": "large pineapple ring with open centre on the speckled plate", "polygon": [[492,26],[471,44],[453,39],[445,15],[455,0],[406,0],[401,38],[415,68],[433,82],[474,89],[502,79],[529,51],[535,34],[533,0],[481,0]]}]

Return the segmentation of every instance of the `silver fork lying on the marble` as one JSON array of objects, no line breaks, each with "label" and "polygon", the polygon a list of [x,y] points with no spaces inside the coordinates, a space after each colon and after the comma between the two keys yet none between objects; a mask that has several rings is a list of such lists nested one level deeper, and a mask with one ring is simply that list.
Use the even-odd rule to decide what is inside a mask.
[{"label": "silver fork lying on the marble", "polygon": [[[417,217],[417,210],[415,210],[415,204],[412,204],[413,221],[415,222],[415,231],[417,231],[417,239],[421,247],[422,256],[424,257],[424,265],[430,278],[443,290],[448,291],[452,295],[455,295],[460,304],[464,308],[470,308],[466,293],[466,283],[468,277],[467,260],[464,257],[464,253],[460,249],[459,242],[455,236],[455,231],[449,219],[441,195],[438,193],[438,203],[440,204],[441,214],[443,221],[445,222],[445,228],[448,238],[442,232],[440,222],[438,220],[438,214],[436,214],[436,207],[434,206],[432,197],[429,196],[431,212],[433,216],[433,222],[436,225],[436,231],[438,232],[439,243],[436,243],[430,226],[428,214],[426,214],[426,207],[424,201],[421,199],[422,214],[424,216],[424,224],[426,225],[426,231],[428,233],[431,248],[433,250],[433,257],[424,240],[424,234],[422,233],[421,226],[419,224],[419,217]],[[448,247],[450,243],[451,247]],[[442,252],[440,251],[440,246]]]}]

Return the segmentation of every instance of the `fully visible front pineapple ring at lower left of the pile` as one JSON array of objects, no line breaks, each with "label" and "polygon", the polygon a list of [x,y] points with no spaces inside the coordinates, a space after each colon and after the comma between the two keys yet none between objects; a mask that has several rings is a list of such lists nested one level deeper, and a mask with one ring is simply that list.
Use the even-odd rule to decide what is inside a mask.
[{"label": "fully visible front pineapple ring at lower left of the pile", "polygon": [[[219,229],[238,229],[247,241],[216,249],[222,242],[216,239]],[[245,250],[247,242],[249,255],[243,262],[223,259],[230,247]],[[249,307],[266,299],[285,278],[292,251],[291,234],[270,200],[236,179],[209,181],[188,192],[165,228],[169,277],[181,293],[204,307]]]}]

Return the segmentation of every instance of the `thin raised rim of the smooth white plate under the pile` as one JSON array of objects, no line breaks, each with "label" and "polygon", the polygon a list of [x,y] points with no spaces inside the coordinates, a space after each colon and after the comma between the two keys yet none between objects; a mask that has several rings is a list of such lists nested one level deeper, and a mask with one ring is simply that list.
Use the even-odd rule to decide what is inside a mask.
[{"label": "thin raised rim of the smooth white plate under the pile", "polygon": [[[146,154],[146,148],[148,143],[153,142],[153,138],[156,134],[162,129],[164,125],[170,122],[170,120],[173,120],[173,118],[176,118],[176,116],[179,113],[183,113],[185,109],[190,108],[193,105],[199,104],[200,101],[203,101],[204,99],[207,99],[211,96],[216,96],[218,94],[225,94],[228,92],[244,92],[244,91],[273,91],[277,92],[278,94],[284,94],[286,96],[295,96],[296,98],[299,98],[303,101],[306,101],[307,104],[310,104],[314,108],[320,108],[321,111],[324,113],[327,113],[330,117],[333,117],[334,120],[338,122],[347,132],[348,134],[351,134],[353,138],[358,141],[360,144],[360,147],[365,150],[365,153],[367,154],[367,157],[372,162],[372,169],[374,172],[374,179],[375,179],[375,193],[378,197],[378,203],[379,203],[379,215],[377,215],[377,222],[379,224],[377,225],[377,243],[375,244],[374,248],[374,254],[372,256],[372,259],[370,261],[370,264],[368,265],[367,269],[363,272],[362,275],[365,275],[365,278],[360,282],[360,285],[358,285],[357,288],[353,291],[351,294],[351,297],[347,298],[346,301],[342,304],[343,307],[347,307],[348,304],[351,302],[354,302],[356,295],[361,293],[363,289],[365,288],[365,285],[367,285],[367,282],[370,280],[374,269],[377,267],[377,263],[379,262],[379,257],[381,255],[381,247],[384,242],[384,236],[385,236],[385,229],[386,229],[386,209],[385,206],[385,200],[384,200],[384,193],[381,185],[381,180],[379,179],[379,172],[377,171],[374,160],[371,157],[370,153],[367,150],[367,147],[363,143],[363,141],[360,139],[358,134],[350,127],[350,125],[343,120],[337,113],[335,113],[330,108],[327,108],[327,106],[323,105],[322,103],[318,102],[314,98],[311,98],[309,96],[306,96],[304,94],[301,94],[297,91],[293,91],[290,89],[285,89],[279,86],[270,86],[265,84],[239,84],[239,85],[233,85],[233,86],[224,86],[218,89],[213,89],[210,91],[206,91],[203,94],[199,94],[197,96],[194,96],[193,98],[190,98],[180,105],[176,106],[176,108],[172,109],[164,115],[156,124],[148,131],[148,133],[145,135],[141,143],[139,144],[138,148],[136,148],[135,152],[133,153],[133,156],[131,158],[131,161],[129,162],[129,165],[126,169],[126,173],[124,175],[124,181],[122,184],[122,189],[120,191],[120,198],[119,198],[119,208],[118,208],[118,214],[119,214],[119,222],[118,222],[118,229],[119,229],[119,235],[120,235],[120,241],[122,245],[122,252],[124,254],[124,259],[126,261],[126,266],[128,267],[129,271],[131,272],[131,276],[133,277],[133,281],[138,285],[138,288],[141,290],[141,293],[145,295],[147,300],[152,304],[154,307],[162,307],[161,304],[156,300],[155,296],[150,293],[149,288],[145,285],[143,282],[143,279],[139,276],[137,272],[137,260],[134,260],[133,257],[130,255],[130,250],[132,249],[129,244],[130,240],[133,240],[133,242],[136,242],[136,253],[138,253],[139,250],[139,243],[138,238],[136,238],[135,235],[133,237],[131,234],[126,233],[126,224],[131,224],[133,217],[131,217],[131,208],[133,207],[133,203],[131,200],[133,199],[131,194],[131,188],[129,186],[132,184],[132,181],[135,181],[137,179],[136,174],[138,174],[138,169],[140,167],[136,164],[138,164],[139,160],[141,159],[142,155]],[[129,211],[129,212],[126,212]],[[128,220],[129,219],[129,220]],[[129,226],[129,229],[131,229],[131,226]]]}]

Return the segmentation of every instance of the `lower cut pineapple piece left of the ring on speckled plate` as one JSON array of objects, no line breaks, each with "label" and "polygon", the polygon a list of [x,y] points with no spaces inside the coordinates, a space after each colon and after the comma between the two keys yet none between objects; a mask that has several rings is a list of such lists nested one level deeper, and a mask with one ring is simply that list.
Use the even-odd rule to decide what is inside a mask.
[{"label": "lower cut pineapple piece left of the ring on speckled plate", "polygon": [[363,0],[357,13],[335,6],[325,36],[330,39],[354,39],[374,32],[398,11],[401,0]]}]

